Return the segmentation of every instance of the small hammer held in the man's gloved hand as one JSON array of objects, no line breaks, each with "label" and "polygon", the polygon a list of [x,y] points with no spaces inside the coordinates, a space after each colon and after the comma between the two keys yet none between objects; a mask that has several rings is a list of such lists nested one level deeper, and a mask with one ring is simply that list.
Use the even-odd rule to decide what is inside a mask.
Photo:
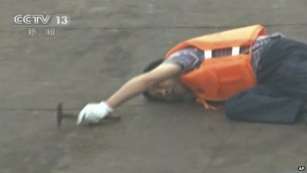
[{"label": "small hammer held in the man's gloved hand", "polygon": [[[59,103],[57,106],[57,125],[58,128],[60,129],[61,127],[61,122],[63,118],[72,118],[72,119],[77,119],[78,115],[73,114],[73,113],[63,113],[63,104]],[[109,120],[121,120],[121,117],[117,114],[110,114],[108,116],[106,116],[104,119],[109,119]],[[103,119],[103,120],[104,120]]]}]

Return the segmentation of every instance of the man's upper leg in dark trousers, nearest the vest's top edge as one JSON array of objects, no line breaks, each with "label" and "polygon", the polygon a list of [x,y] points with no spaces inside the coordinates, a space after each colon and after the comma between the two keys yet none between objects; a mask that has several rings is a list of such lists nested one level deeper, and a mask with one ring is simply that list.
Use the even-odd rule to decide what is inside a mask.
[{"label": "man's upper leg in dark trousers, nearest the vest's top edge", "polygon": [[283,96],[307,102],[307,45],[280,39],[261,57],[258,83],[269,84]]}]

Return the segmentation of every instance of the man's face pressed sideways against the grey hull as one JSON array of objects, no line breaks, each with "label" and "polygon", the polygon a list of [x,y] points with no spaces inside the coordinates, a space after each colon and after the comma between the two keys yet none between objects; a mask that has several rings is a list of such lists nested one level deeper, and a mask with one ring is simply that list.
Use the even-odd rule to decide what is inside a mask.
[{"label": "man's face pressed sideways against the grey hull", "polygon": [[177,101],[182,99],[188,93],[188,90],[177,78],[169,78],[151,86],[148,93],[165,101]]}]

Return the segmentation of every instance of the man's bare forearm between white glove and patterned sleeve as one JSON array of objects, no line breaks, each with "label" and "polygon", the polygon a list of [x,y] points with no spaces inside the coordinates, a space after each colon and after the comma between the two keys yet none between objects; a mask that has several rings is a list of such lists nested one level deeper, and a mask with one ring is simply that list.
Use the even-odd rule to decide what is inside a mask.
[{"label": "man's bare forearm between white glove and patterned sleeve", "polygon": [[146,91],[153,84],[179,74],[181,68],[178,64],[167,63],[158,66],[152,71],[133,77],[114,93],[106,104],[115,108]]}]

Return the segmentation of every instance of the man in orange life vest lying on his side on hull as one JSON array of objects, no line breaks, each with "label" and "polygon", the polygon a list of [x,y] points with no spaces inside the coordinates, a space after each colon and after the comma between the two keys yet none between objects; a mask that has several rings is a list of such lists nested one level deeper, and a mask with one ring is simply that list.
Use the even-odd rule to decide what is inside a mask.
[{"label": "man in orange life vest lying on his side on hull", "polygon": [[291,124],[307,112],[307,45],[261,25],[183,41],[108,100],[86,105],[77,124],[97,123],[141,93],[154,101],[192,94],[206,109],[225,101],[231,119]]}]

